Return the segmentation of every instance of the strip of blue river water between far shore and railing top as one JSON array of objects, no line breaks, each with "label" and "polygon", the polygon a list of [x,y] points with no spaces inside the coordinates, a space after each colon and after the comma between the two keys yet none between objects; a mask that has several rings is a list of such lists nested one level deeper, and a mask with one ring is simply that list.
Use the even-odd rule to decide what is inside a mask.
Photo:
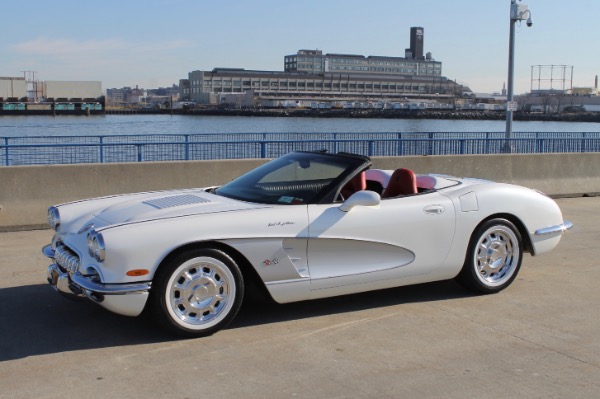
[{"label": "strip of blue river water between far shore and railing top", "polygon": [[[505,121],[186,115],[1,116],[0,137],[205,133],[504,132]],[[600,123],[513,122],[515,132],[600,132]]]}]

